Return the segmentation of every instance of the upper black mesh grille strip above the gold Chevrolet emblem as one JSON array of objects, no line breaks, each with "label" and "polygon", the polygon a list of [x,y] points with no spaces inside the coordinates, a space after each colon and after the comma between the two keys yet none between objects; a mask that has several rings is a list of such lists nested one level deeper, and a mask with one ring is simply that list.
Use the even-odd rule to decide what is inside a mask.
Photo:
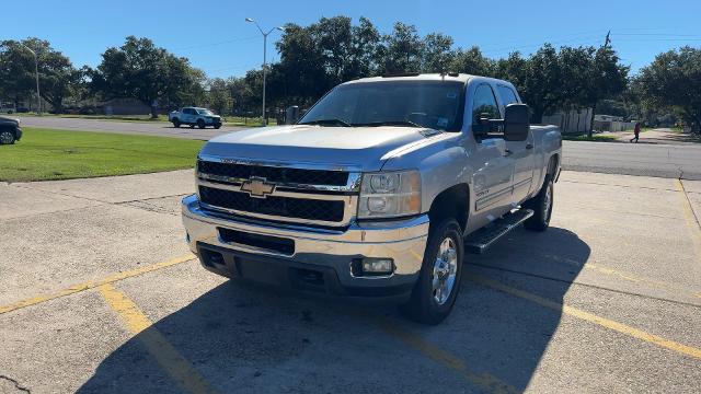
[{"label": "upper black mesh grille strip above the gold Chevrolet emblem", "polygon": [[203,174],[240,179],[263,177],[272,183],[345,186],[348,182],[348,173],[345,171],[289,169],[267,165],[220,163],[205,160],[197,162],[197,171]]}]

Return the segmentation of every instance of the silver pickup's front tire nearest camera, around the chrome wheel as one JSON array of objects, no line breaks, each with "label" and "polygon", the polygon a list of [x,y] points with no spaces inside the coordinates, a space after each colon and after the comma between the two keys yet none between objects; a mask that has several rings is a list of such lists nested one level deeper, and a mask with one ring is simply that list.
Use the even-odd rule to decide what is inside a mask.
[{"label": "silver pickup's front tire nearest camera, around the chrome wheel", "polygon": [[462,242],[462,231],[455,219],[432,225],[418,280],[409,302],[400,306],[409,318],[423,324],[438,324],[450,314],[460,291],[464,258]]}]

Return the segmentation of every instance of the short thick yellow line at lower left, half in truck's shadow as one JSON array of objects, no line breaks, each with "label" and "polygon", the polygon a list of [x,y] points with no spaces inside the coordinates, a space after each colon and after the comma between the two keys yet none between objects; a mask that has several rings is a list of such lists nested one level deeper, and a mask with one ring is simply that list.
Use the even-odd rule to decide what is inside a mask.
[{"label": "short thick yellow line at lower left, half in truck's shadow", "polygon": [[110,308],[119,315],[131,334],[146,346],[156,361],[186,392],[216,393],[205,378],[171,345],[151,321],[125,293],[106,283],[97,288]]}]

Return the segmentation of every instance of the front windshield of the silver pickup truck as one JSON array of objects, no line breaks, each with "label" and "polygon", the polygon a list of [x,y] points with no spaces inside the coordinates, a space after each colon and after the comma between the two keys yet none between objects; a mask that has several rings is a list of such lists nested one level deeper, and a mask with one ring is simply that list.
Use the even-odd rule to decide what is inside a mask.
[{"label": "front windshield of the silver pickup truck", "polygon": [[413,126],[458,131],[462,92],[456,81],[382,81],[340,85],[321,99],[300,124]]}]

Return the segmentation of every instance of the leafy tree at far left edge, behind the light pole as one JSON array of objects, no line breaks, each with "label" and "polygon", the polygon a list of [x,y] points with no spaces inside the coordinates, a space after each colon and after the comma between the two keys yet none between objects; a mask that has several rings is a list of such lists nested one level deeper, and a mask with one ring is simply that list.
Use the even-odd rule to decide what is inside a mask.
[{"label": "leafy tree at far left edge, behind the light pole", "polygon": [[0,90],[14,100],[15,106],[21,99],[35,94],[34,55],[27,48],[34,50],[38,59],[42,99],[60,113],[64,100],[73,93],[80,81],[80,72],[47,40],[27,38],[0,42]]}]

